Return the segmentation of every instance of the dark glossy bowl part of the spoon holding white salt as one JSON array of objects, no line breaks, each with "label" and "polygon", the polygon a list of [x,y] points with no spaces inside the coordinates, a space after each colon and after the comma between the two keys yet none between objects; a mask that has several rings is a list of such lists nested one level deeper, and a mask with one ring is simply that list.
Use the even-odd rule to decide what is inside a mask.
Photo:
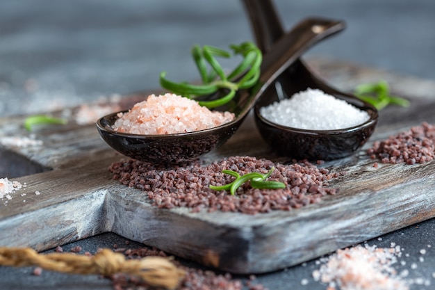
[{"label": "dark glossy bowl part of the spoon holding white salt", "polygon": [[285,83],[288,95],[291,96],[295,92],[306,90],[306,88],[318,88],[366,111],[370,115],[370,119],[359,126],[340,130],[306,130],[275,124],[260,114],[261,107],[279,100],[277,91],[270,88],[254,106],[254,118],[261,136],[277,154],[299,160],[327,161],[350,156],[366,143],[377,124],[378,113],[373,106],[362,102],[353,95],[330,88],[315,78],[302,64],[302,61],[297,61],[290,67],[289,75],[291,79]]}]

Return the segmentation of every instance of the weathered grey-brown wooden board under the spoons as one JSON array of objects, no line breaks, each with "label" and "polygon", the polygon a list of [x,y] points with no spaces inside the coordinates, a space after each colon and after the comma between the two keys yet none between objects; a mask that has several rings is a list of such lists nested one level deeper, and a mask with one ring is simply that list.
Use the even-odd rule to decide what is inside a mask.
[{"label": "weathered grey-brown wooden board under the spoons", "polygon": [[[410,108],[391,107],[381,112],[377,130],[363,150],[374,140],[422,121],[435,123],[434,81],[321,59],[310,63],[343,90],[385,79],[396,94],[411,99]],[[25,136],[22,120],[22,116],[0,119],[0,138]],[[31,175],[13,178],[27,187],[15,193],[7,205],[0,202],[0,245],[45,250],[115,232],[224,271],[263,273],[435,216],[434,161],[374,168],[375,161],[361,150],[347,159],[325,163],[347,175],[331,182],[340,193],[318,204],[256,216],[191,213],[183,208],[156,209],[141,191],[112,180],[107,168],[123,157],[100,140],[94,125],[69,124],[38,131],[37,136],[44,145],[1,147],[3,172],[19,159],[22,172]],[[261,140],[252,118],[224,147],[204,158],[212,161],[246,154],[285,160]],[[41,194],[35,195],[35,191]]]}]

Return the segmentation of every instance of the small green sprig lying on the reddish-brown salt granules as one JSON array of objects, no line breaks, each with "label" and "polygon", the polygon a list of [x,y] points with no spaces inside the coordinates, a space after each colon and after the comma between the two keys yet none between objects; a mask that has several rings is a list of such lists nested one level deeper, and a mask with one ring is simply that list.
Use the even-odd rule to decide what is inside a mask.
[{"label": "small green sprig lying on the reddish-brown salt granules", "polygon": [[260,189],[278,189],[278,188],[286,188],[286,184],[282,182],[276,182],[274,180],[266,180],[272,175],[272,172],[275,168],[272,167],[266,174],[261,174],[258,172],[250,172],[245,175],[239,175],[238,172],[233,170],[222,170],[222,173],[231,175],[236,177],[233,182],[229,184],[224,184],[222,186],[213,186],[209,185],[208,187],[215,191],[229,191],[231,195],[235,195],[237,188],[239,188],[242,184],[249,181],[251,182],[252,188],[260,188]]}]

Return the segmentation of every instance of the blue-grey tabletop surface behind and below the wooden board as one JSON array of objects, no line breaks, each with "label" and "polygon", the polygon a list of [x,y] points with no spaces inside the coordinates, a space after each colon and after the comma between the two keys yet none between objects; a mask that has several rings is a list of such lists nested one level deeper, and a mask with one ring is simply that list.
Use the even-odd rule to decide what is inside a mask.
[{"label": "blue-grey tabletop surface behind and below the wooden board", "polygon": [[[435,1],[276,1],[289,28],[302,17],[320,15],[347,22],[347,29],[309,51],[400,74],[435,79]],[[197,79],[189,49],[193,43],[227,47],[252,39],[238,1],[31,1],[0,2],[0,113],[47,111],[101,96],[158,87],[158,73]],[[1,161],[0,161],[1,162]],[[435,280],[434,220],[375,239],[396,243],[409,277]],[[123,243],[104,234],[74,243],[85,250]],[[432,248],[427,248],[432,245]],[[72,247],[69,245],[65,247]],[[420,255],[420,249],[427,253]],[[419,258],[423,257],[424,261]],[[415,262],[418,268],[411,269]],[[315,261],[261,275],[269,289],[326,289],[313,282]],[[0,268],[1,289],[110,289],[96,276],[72,276],[32,268]],[[309,284],[301,281],[308,279]]]}]

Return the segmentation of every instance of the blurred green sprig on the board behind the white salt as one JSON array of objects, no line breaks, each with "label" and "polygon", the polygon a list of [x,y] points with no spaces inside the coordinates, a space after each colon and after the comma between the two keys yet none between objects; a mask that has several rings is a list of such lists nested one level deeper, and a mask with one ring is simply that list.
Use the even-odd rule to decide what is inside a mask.
[{"label": "blurred green sprig on the board behind the white salt", "polygon": [[365,83],[356,86],[354,94],[356,97],[359,97],[359,99],[375,106],[378,111],[381,111],[390,104],[404,107],[409,106],[409,101],[407,99],[390,95],[390,88],[386,81]]}]

